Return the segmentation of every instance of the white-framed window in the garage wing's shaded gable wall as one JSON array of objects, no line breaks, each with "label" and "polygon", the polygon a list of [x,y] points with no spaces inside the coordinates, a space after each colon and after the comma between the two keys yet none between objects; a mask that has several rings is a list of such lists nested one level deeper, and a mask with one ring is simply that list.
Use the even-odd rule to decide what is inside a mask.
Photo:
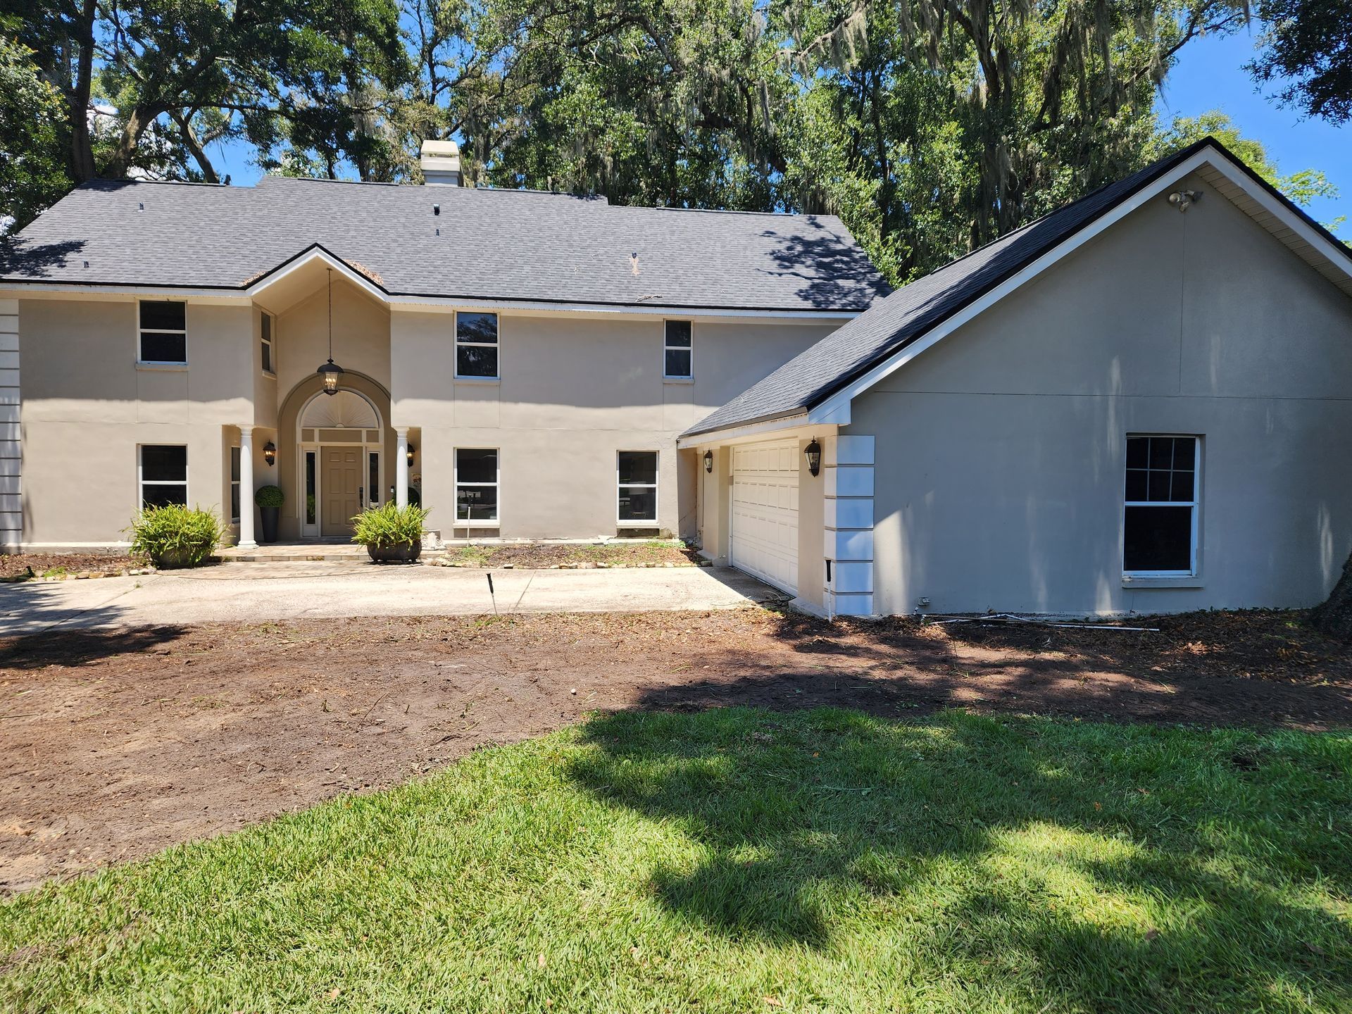
[{"label": "white-framed window in the garage wing's shaded gable wall", "polygon": [[1122,510],[1122,573],[1197,573],[1202,438],[1129,434]]}]

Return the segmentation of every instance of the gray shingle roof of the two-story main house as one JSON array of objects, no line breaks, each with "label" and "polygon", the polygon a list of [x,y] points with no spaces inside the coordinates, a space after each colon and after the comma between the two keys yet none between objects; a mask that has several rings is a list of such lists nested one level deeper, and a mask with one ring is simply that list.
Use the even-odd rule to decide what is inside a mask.
[{"label": "gray shingle roof of the two-story main house", "polygon": [[859,311],[888,291],[831,215],[272,176],[85,184],[0,250],[0,284],[238,289],[316,243],[391,295]]}]

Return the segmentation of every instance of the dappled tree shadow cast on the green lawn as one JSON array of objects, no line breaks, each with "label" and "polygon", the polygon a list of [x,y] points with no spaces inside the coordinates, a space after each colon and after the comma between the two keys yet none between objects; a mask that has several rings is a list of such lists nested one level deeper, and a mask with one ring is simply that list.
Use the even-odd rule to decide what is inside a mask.
[{"label": "dappled tree shadow cast on the green lawn", "polygon": [[699,846],[654,896],[730,937],[823,949],[864,913],[921,967],[1014,990],[1007,967],[1069,1009],[1352,1002],[1348,927],[1315,902],[1352,890],[1332,753],[952,713],[619,713],[584,734],[581,786]]}]

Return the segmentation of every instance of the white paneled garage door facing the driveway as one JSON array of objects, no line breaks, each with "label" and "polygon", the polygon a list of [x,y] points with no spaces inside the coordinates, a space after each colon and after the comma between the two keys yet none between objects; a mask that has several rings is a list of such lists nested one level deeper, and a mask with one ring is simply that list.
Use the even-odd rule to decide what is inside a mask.
[{"label": "white paneled garage door facing the driveway", "polygon": [[733,448],[733,566],[798,594],[798,441]]}]

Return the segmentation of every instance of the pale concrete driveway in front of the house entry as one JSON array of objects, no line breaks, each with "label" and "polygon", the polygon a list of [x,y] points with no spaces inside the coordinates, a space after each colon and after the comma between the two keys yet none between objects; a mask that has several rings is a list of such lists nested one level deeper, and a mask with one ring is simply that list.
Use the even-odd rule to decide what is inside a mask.
[{"label": "pale concrete driveway in front of the house entry", "polygon": [[220,564],[139,577],[0,585],[0,635],[297,617],[722,610],[786,596],[740,571],[470,571],[366,562]]}]

